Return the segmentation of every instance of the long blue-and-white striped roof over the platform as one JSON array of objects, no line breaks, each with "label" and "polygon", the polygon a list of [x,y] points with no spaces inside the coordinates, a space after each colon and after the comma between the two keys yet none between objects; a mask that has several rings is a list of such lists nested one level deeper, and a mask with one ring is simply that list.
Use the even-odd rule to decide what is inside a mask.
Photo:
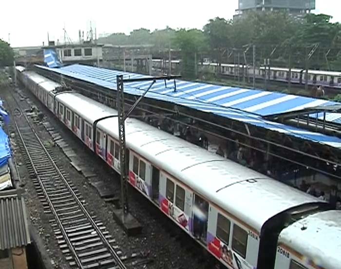
[{"label": "long blue-and-white striped roof over the platform", "polygon": [[[124,78],[146,77],[146,75],[136,73],[120,72],[77,64],[58,69],[38,67],[90,82],[110,90],[116,90],[116,75],[123,74]],[[129,94],[141,95],[150,84],[150,81],[127,83],[124,86],[124,90]],[[337,104],[335,102],[277,92],[240,89],[182,80],[176,80],[176,91],[174,91],[172,81],[167,81],[167,86],[165,86],[164,81],[157,81],[147,93],[146,97],[171,102],[176,105],[213,113],[301,139],[341,148],[340,138],[271,122],[263,118],[263,116],[272,114]]]}]

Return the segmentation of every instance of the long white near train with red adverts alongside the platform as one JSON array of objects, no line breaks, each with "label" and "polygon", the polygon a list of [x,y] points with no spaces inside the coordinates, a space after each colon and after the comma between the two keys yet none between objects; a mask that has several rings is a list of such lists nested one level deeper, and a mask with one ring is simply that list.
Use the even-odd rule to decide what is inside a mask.
[{"label": "long white near train with red adverts alongside the platform", "polygon": [[[19,80],[120,173],[117,111],[36,72]],[[228,269],[340,269],[341,211],[137,119],[128,181]]]}]

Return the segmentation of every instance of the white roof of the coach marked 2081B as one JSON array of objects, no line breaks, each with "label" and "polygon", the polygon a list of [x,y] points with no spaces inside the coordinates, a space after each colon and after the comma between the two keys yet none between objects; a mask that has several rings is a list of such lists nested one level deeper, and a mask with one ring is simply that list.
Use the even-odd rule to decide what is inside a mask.
[{"label": "white roof of the coach marked 2081B", "polygon": [[280,233],[281,243],[316,268],[340,269],[341,211],[316,213],[291,224]]}]

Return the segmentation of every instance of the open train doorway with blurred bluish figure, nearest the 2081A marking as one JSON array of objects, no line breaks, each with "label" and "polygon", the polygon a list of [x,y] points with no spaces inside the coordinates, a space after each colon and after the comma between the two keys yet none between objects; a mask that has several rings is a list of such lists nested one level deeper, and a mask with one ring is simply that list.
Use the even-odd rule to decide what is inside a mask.
[{"label": "open train doorway with blurred bluish figure, nearest the 2081A marking", "polygon": [[194,194],[193,235],[206,244],[209,204],[204,198]]}]

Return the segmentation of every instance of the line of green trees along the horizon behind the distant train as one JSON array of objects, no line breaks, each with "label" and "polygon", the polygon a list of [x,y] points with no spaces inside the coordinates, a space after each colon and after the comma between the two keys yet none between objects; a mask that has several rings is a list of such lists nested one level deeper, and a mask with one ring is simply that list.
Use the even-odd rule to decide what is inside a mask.
[{"label": "line of green trees along the horizon behind the distant train", "polygon": [[[141,28],[130,35],[115,33],[99,42],[114,45],[153,45],[152,53],[178,50],[182,75],[195,75],[195,62],[209,57],[218,63],[252,65],[253,45],[256,64],[270,59],[272,66],[341,70],[341,24],[331,16],[306,14],[297,19],[285,12],[250,13],[246,18],[212,18],[203,29],[166,29],[151,32]],[[311,54],[313,53],[313,54]],[[289,63],[290,62],[290,63]]]}]

